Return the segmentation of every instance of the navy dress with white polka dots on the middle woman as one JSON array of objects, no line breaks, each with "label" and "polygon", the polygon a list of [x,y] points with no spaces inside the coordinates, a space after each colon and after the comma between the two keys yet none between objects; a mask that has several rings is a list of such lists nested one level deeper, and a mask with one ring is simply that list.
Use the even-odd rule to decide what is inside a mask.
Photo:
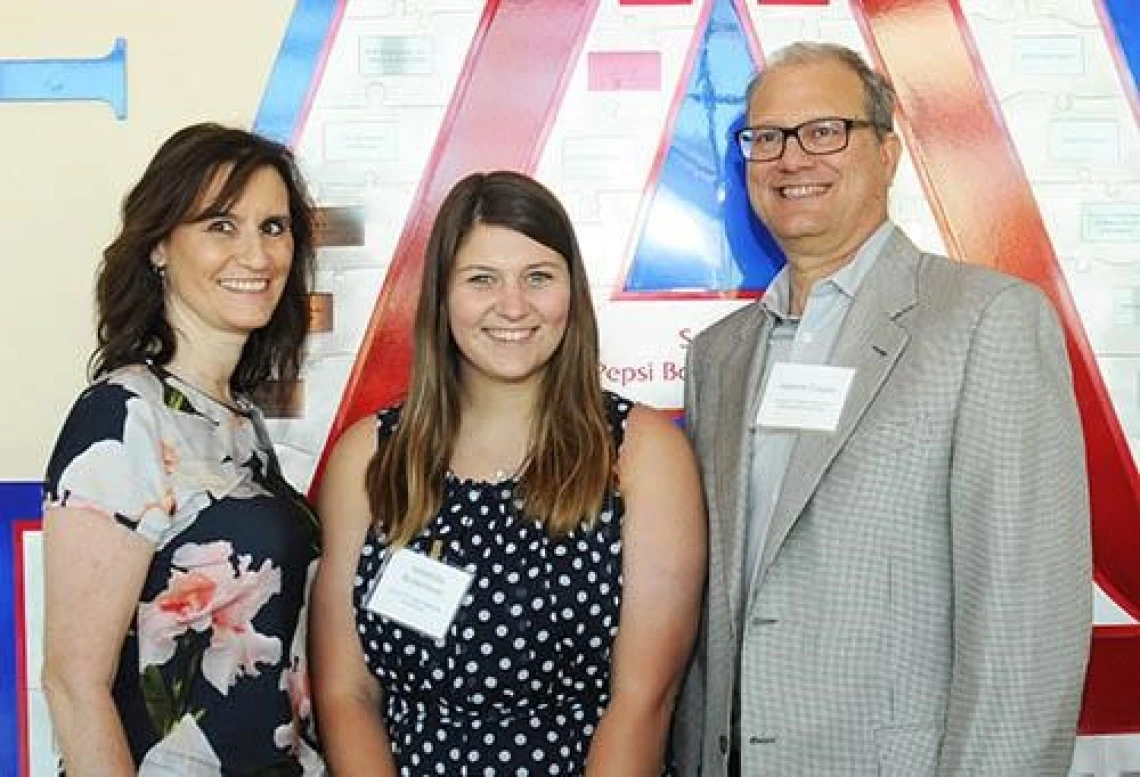
[{"label": "navy dress with white polka dots on the middle woman", "polygon": [[[630,404],[608,395],[620,445]],[[391,433],[398,410],[378,416]],[[449,475],[439,514],[412,542],[474,578],[435,641],[364,607],[389,550],[369,533],[353,600],[369,669],[385,695],[400,774],[581,775],[609,701],[621,604],[621,497],[562,538],[523,518],[515,482]]]}]

